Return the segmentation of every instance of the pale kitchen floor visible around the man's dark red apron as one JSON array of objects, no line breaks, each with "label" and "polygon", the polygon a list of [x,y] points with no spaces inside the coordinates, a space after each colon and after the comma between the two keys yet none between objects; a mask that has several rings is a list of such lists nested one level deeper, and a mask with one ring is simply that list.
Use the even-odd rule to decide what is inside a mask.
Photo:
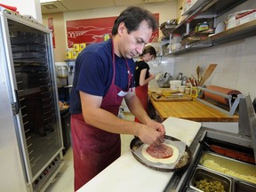
[{"label": "pale kitchen floor visible around the man's dark red apron", "polygon": [[[124,114],[126,120],[133,121],[134,116],[129,113]],[[122,151],[121,154],[130,150],[132,135],[121,135]],[[73,154],[72,148],[68,148],[64,156],[64,165],[57,174],[52,184],[46,188],[45,192],[74,192],[74,171],[73,171]]]}]

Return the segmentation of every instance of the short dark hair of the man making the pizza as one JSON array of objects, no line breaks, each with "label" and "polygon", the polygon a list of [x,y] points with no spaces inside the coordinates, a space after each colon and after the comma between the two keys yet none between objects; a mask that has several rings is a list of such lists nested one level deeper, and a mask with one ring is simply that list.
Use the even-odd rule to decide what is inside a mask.
[{"label": "short dark hair of the man making the pizza", "polygon": [[146,20],[148,27],[152,28],[153,31],[158,28],[156,17],[151,12],[140,7],[129,6],[116,18],[114,27],[112,28],[112,35],[115,36],[117,34],[117,29],[121,22],[124,22],[128,34],[130,34],[131,31],[139,28],[142,20]]}]

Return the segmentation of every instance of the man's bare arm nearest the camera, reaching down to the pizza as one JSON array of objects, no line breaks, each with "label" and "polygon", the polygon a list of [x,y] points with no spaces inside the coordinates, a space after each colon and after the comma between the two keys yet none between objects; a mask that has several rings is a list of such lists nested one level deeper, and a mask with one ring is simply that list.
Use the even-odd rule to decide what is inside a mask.
[{"label": "man's bare arm nearest the camera, reaching down to the pizza", "polygon": [[[85,92],[80,92],[80,98],[82,103],[84,121],[87,124],[92,124],[93,126],[107,132],[136,135],[140,138],[140,140],[142,140],[142,142],[145,142],[147,144],[160,144],[161,142],[164,142],[163,136],[165,132],[163,125],[162,129],[157,130],[156,128],[149,128],[146,124],[138,124],[132,121],[120,119],[112,113],[108,112],[107,110],[100,108],[102,101],[102,97],[100,96],[94,96]],[[142,111],[144,111],[143,108],[141,112]],[[146,112],[144,111],[144,113]],[[145,119],[148,121],[147,124],[150,124],[150,118],[148,117]]]}]

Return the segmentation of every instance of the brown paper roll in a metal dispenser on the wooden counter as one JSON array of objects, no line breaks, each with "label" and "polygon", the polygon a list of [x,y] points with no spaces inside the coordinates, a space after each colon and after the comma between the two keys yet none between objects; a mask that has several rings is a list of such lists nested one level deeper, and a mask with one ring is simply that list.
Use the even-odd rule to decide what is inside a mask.
[{"label": "brown paper roll in a metal dispenser on the wooden counter", "polygon": [[[239,92],[237,90],[232,90],[232,89],[215,86],[215,85],[208,85],[208,86],[206,86],[206,89],[210,90],[210,91],[214,91],[214,92],[220,92],[223,94],[231,95],[232,98],[236,97],[238,94],[241,94],[241,92]],[[212,92],[204,91],[204,97],[209,98],[211,100],[216,100],[216,101],[219,101],[220,103],[228,105],[228,99],[221,97],[220,95],[214,94]],[[234,100],[231,100],[231,101],[233,102]]]}]

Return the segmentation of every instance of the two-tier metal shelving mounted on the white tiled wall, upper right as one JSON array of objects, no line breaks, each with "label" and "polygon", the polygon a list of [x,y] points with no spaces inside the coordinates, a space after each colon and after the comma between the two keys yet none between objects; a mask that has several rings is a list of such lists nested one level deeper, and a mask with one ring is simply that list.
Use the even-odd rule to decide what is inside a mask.
[{"label": "two-tier metal shelving mounted on the white tiled wall, upper right", "polygon": [[[171,34],[180,34],[185,37],[191,37],[191,31],[195,29],[196,24],[203,20],[211,23],[210,28],[216,27],[215,19],[221,14],[228,12],[239,4],[243,4],[247,0],[197,0],[198,3],[191,7],[186,14],[186,18],[182,20],[175,28],[173,28]],[[183,15],[184,16],[184,15]],[[203,40],[185,41],[186,44],[182,44],[180,49],[171,51],[171,54],[180,54],[184,52],[191,52],[206,47],[211,47],[217,44],[224,44],[230,41],[235,41],[248,36],[256,36],[256,21],[252,20],[248,23],[244,23],[235,28],[229,28],[226,31],[220,32],[215,35],[205,36]],[[171,41],[172,42],[172,41]],[[182,43],[182,40],[181,42]]]}]

